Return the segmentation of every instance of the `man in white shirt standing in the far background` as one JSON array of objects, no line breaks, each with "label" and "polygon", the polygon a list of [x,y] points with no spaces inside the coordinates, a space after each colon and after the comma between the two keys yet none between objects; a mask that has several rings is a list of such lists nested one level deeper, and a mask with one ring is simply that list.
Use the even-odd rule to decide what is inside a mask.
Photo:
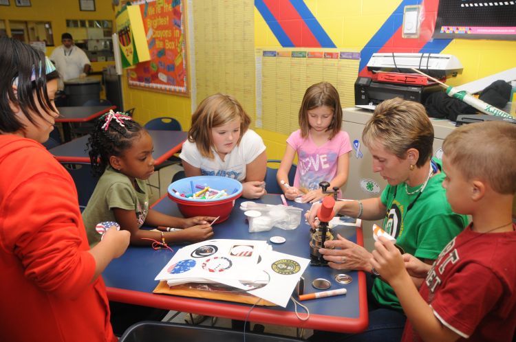
[{"label": "man in white shirt standing in the far background", "polygon": [[85,77],[92,69],[88,57],[82,49],[74,45],[72,34],[63,33],[61,43],[50,55],[50,60],[56,65],[56,69],[61,76],[59,78],[59,90],[63,90],[64,81],[72,78]]}]

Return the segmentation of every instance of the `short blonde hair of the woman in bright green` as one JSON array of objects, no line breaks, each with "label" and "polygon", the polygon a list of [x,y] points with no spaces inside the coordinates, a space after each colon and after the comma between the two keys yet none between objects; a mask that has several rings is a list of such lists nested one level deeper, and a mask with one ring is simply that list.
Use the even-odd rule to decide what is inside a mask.
[{"label": "short blonde hair of the woman in bright green", "polygon": [[362,132],[365,146],[380,144],[400,159],[407,158],[407,150],[416,148],[420,168],[432,155],[433,126],[418,102],[394,98],[376,106]]}]

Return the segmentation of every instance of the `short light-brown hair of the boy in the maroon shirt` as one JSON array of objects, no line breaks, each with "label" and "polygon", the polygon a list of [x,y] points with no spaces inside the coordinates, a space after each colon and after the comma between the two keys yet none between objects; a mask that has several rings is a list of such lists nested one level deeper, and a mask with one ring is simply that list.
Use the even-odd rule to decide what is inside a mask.
[{"label": "short light-brown hair of the boy in the maroon shirt", "polygon": [[465,179],[482,179],[499,194],[516,192],[516,125],[480,122],[455,128],[442,150]]}]

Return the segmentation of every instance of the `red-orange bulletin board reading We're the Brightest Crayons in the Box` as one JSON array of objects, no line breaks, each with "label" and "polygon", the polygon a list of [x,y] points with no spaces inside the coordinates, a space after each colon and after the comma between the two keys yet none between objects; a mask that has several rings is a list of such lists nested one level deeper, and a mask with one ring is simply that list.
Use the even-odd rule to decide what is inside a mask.
[{"label": "red-orange bulletin board reading We're the Brightest Crayons in the Box", "polygon": [[129,87],[189,95],[182,0],[133,1],[140,6],[151,60],[127,70]]}]

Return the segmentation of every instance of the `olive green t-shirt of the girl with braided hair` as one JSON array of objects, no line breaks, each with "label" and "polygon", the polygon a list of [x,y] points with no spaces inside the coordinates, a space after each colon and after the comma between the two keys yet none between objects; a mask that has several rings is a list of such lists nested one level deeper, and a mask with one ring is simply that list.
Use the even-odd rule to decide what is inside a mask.
[{"label": "olive green t-shirt of the girl with braided hair", "polygon": [[100,222],[116,221],[112,208],[134,210],[141,227],[149,212],[149,194],[147,185],[141,179],[136,179],[139,189],[136,190],[131,180],[111,166],[108,166],[100,176],[97,186],[89,198],[83,212],[84,226],[88,237],[89,247],[94,247],[100,241],[100,234],[95,226]]}]

